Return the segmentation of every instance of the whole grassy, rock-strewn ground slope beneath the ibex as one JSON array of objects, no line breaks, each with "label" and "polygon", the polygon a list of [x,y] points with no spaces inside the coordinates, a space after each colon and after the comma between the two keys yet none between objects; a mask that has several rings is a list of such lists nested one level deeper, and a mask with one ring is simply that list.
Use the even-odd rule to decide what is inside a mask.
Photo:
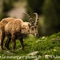
[{"label": "whole grassy, rock-strewn ground slope beneath the ibex", "polygon": [[[24,38],[25,50],[22,51],[19,40],[16,40],[15,51],[5,47],[0,52],[2,60],[60,60],[60,32],[51,36],[36,38],[28,35]],[[12,47],[12,42],[10,48]]]}]

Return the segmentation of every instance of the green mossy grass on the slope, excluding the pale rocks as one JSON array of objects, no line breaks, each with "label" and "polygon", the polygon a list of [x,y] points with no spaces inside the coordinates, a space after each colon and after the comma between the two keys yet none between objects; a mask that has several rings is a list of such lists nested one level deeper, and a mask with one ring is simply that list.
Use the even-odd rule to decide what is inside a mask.
[{"label": "green mossy grass on the slope, excluding the pale rocks", "polygon": [[[0,56],[24,56],[21,60],[33,60],[35,58],[27,58],[25,59],[29,53],[38,51],[38,53],[34,56],[41,56],[39,59],[45,59],[45,55],[53,55],[54,59],[57,60],[60,56],[60,32],[53,34],[51,36],[36,38],[33,35],[29,35],[24,39],[25,50],[22,51],[21,44],[19,40],[16,41],[16,49],[15,51],[9,50],[13,54],[7,54],[6,49],[3,52],[0,52]],[[10,43],[12,47],[12,42]],[[55,58],[58,56],[57,58]],[[49,60],[49,59],[47,59]]]}]

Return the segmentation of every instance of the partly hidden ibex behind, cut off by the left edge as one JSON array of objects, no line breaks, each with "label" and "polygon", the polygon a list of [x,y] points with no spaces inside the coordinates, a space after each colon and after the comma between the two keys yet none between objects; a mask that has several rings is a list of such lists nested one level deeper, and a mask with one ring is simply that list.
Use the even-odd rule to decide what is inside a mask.
[{"label": "partly hidden ibex behind, cut off by the left edge", "polygon": [[5,25],[10,22],[10,21],[13,21],[14,18],[4,18],[0,21],[0,51],[2,51],[3,49],[3,41],[4,41],[4,38],[5,38]]}]

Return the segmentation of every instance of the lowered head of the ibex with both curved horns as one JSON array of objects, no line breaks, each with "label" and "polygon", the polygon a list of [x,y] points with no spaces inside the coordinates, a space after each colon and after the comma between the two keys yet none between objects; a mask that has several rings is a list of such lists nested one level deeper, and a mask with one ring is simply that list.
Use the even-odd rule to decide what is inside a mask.
[{"label": "lowered head of the ibex with both curved horns", "polygon": [[35,22],[33,22],[32,18],[27,13],[24,13],[24,14],[28,16],[29,21],[30,21],[29,22],[29,33],[33,34],[34,36],[37,36],[38,35],[38,14],[34,13],[34,15],[36,15]]}]

